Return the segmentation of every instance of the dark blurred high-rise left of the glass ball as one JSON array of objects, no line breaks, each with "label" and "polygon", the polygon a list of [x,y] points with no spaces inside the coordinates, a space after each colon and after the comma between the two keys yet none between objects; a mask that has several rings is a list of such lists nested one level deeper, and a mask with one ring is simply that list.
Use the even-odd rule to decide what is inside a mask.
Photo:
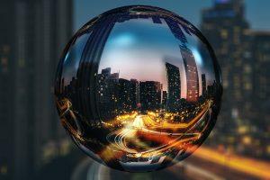
[{"label": "dark blurred high-rise left of the glass ball", "polygon": [[30,179],[59,153],[53,81],[72,8],[71,0],[0,2],[0,179]]}]

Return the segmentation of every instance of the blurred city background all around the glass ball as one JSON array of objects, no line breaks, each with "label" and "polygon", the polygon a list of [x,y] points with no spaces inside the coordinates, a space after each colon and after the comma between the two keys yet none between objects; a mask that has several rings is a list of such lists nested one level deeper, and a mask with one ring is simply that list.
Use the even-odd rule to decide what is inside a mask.
[{"label": "blurred city background all around the glass ball", "polygon": [[[223,76],[217,124],[201,148],[154,173],[86,157],[60,127],[53,81],[61,51],[84,23],[114,7],[180,14],[211,42]],[[0,0],[0,180],[270,179],[270,1]]]}]

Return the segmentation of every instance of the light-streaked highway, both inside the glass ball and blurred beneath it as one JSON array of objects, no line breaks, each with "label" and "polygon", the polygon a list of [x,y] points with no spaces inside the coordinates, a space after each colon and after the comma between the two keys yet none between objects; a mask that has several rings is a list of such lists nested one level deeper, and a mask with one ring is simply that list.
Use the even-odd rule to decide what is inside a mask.
[{"label": "light-streaked highway, both inside the glass ball and blurred beneath it", "polygon": [[[110,160],[114,151],[131,154],[134,157],[153,157],[162,155],[170,148],[183,148],[185,142],[199,139],[202,131],[193,130],[197,123],[204,120],[211,112],[208,105],[202,107],[192,121],[172,124],[168,121],[160,122],[153,119],[151,114],[123,115],[119,121],[124,121],[120,130],[112,131],[106,137],[111,144],[104,150],[103,157]],[[149,128],[149,126],[151,128]],[[207,126],[207,124],[205,125]],[[170,130],[168,130],[170,129]],[[179,132],[183,129],[184,132]],[[152,146],[148,142],[156,142]],[[110,155],[110,156],[109,156]],[[87,158],[76,166],[72,179],[270,179],[269,162],[258,159],[241,157],[215,148],[203,146],[195,150],[192,156],[187,157],[175,166],[168,167],[155,173],[126,173],[112,170],[99,165]]]}]

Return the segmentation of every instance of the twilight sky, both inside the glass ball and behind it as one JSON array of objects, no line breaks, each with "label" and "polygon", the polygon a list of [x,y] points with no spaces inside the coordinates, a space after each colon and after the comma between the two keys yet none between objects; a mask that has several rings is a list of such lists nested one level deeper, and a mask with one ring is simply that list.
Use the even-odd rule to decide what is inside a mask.
[{"label": "twilight sky, both inside the glass ball and behind it", "polygon": [[[251,28],[254,30],[270,31],[270,12],[268,11],[270,1],[245,0],[245,2],[246,18],[247,22],[250,23]],[[200,28],[201,11],[204,8],[211,7],[213,5],[213,0],[79,0],[75,1],[74,31],[98,14],[102,14],[115,7],[131,4],[145,4],[165,8],[183,16],[186,20]],[[134,22],[132,23],[132,21],[127,23],[127,27],[130,26],[131,31],[125,30],[121,24],[116,24],[113,28],[108,43],[105,45],[99,70],[105,67],[112,67],[112,72],[120,71],[120,76],[123,78],[137,78],[142,81],[160,81],[164,84],[166,89],[166,72],[164,64],[162,64],[164,63],[164,58],[167,55],[175,62],[182,62],[182,60],[179,60],[179,58],[181,58],[179,49],[174,45],[174,43],[176,43],[174,41],[175,38],[171,33],[168,33],[167,27],[164,26],[164,24],[161,25],[163,27],[157,27],[158,24],[155,24],[156,26],[148,25],[148,30],[145,31],[139,28],[142,24],[135,24]],[[142,21],[140,23],[148,22]],[[135,26],[136,31],[132,31]],[[188,40],[193,41],[190,38]],[[160,43],[161,41],[162,43]],[[151,46],[148,46],[149,43],[151,43]],[[153,46],[153,44],[156,46]],[[146,49],[145,47],[148,48]],[[190,48],[192,49],[193,47]],[[156,52],[153,51],[154,49]],[[158,52],[157,49],[159,49]],[[200,63],[202,63],[200,62],[200,56],[195,52],[196,49],[192,50],[197,65],[200,65]],[[130,66],[130,62],[135,61],[139,62],[139,65],[143,64],[143,67],[136,66],[135,64],[137,63],[133,63],[133,66]],[[181,78],[184,77],[184,71],[181,70],[183,64],[180,63],[176,66],[180,68]],[[206,67],[211,69],[210,64]],[[202,73],[206,74],[206,79],[208,80],[207,83],[209,84],[211,82],[211,72],[209,69],[205,69],[203,63],[201,64],[201,67],[198,68],[200,84],[202,82]],[[151,79],[146,78],[146,76],[150,76]],[[181,96],[183,97],[185,96],[184,80],[181,84]],[[200,94],[201,93],[202,87],[200,87]]]}]

